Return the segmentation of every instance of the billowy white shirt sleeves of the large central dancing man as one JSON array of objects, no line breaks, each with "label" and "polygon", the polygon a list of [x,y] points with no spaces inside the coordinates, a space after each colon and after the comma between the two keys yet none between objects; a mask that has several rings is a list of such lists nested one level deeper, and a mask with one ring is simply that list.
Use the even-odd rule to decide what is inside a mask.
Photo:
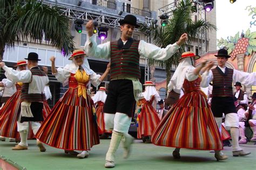
[{"label": "billowy white shirt sleeves of the large central dancing man", "polygon": [[[93,35],[94,36],[94,35]],[[85,43],[85,53],[88,56],[97,57],[97,58],[110,58],[110,42],[99,44],[95,42],[94,38],[90,37],[87,39]],[[90,44],[92,43],[92,47]],[[138,52],[141,57],[145,58],[153,58],[159,60],[167,60],[169,59],[176,51],[179,49],[179,45],[177,43],[169,44],[165,47],[165,49],[161,49],[160,47],[146,43],[144,40],[140,40],[138,46]]]}]

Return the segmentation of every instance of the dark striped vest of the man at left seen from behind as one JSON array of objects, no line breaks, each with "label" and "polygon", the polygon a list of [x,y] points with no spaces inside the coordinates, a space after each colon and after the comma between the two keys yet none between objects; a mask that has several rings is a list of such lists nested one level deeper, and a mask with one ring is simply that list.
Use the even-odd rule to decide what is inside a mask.
[{"label": "dark striped vest of the man at left seen from behind", "polygon": [[[33,76],[46,76],[46,74],[39,69],[39,67],[33,67],[30,69],[32,73],[31,81]],[[30,81],[30,83],[31,83]],[[29,85],[30,83],[23,83],[22,88],[21,88],[21,100],[22,101],[28,101],[28,102],[39,102],[39,101],[44,101],[45,100],[45,95],[44,93],[41,94],[29,94]]]}]

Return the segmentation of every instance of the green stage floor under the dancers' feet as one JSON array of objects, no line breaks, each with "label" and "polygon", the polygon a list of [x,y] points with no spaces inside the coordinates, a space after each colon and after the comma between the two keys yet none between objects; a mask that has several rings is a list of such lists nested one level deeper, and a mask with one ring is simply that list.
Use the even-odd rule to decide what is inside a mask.
[{"label": "green stage floor under the dancers' feet", "polygon": [[[51,169],[106,169],[104,168],[105,153],[110,140],[100,140],[100,144],[93,146],[89,158],[78,159],[70,154],[65,154],[63,149],[46,146],[46,152],[39,152],[36,140],[29,140],[29,149],[26,151],[12,151],[14,142],[0,141],[0,155],[17,162],[28,170]],[[173,148],[144,144],[142,140],[135,140],[131,157],[122,158],[122,145],[118,148],[116,167],[114,169],[256,169],[256,145],[254,142],[243,144],[245,151],[252,152],[246,157],[233,157],[232,147],[225,147],[228,155],[225,161],[216,161],[214,153],[181,149],[181,159],[172,158]],[[1,169],[1,167],[0,167]]]}]

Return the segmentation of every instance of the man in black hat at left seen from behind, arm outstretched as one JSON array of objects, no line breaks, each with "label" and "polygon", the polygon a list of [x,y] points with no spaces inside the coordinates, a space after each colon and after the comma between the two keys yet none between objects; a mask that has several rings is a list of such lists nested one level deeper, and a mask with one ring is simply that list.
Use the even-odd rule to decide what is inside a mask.
[{"label": "man in black hat at left seen from behind, arm outstretched", "polygon": [[[45,100],[44,87],[49,83],[48,76],[39,69],[38,55],[35,52],[30,52],[28,58],[28,69],[16,71],[0,62],[0,67],[5,70],[5,76],[14,82],[22,82],[21,89],[21,114],[19,115],[17,126],[21,136],[21,142],[12,148],[12,150],[28,149],[28,131],[29,122],[31,123],[33,133],[36,134],[43,121],[43,101]],[[45,152],[45,147],[42,142],[37,140],[37,146],[41,152]]]}]

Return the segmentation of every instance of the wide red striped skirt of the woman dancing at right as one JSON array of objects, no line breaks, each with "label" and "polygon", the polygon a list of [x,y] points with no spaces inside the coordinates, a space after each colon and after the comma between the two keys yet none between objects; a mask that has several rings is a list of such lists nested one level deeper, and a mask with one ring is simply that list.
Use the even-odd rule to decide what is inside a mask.
[{"label": "wide red striped skirt of the woman dancing at right", "polygon": [[181,97],[166,113],[152,135],[155,145],[220,150],[221,135],[202,91]]}]

